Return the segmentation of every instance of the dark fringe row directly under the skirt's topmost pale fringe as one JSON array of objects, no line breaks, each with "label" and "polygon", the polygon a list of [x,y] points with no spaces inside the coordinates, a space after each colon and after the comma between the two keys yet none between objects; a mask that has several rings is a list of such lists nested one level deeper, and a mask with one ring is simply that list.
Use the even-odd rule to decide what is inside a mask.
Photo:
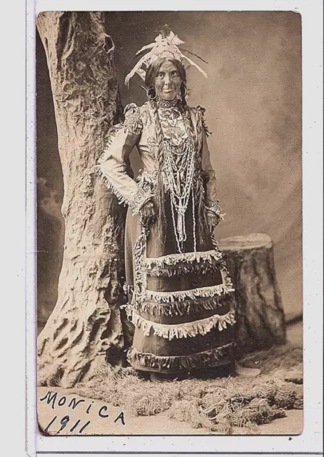
[{"label": "dark fringe row directly under the skirt's topmost pale fringe", "polygon": [[146,273],[148,276],[157,276],[158,278],[181,275],[183,276],[189,273],[206,274],[214,273],[224,266],[225,263],[223,261],[220,262],[216,260],[201,263],[179,263],[176,266],[166,266],[165,268],[153,267],[147,269]]}]

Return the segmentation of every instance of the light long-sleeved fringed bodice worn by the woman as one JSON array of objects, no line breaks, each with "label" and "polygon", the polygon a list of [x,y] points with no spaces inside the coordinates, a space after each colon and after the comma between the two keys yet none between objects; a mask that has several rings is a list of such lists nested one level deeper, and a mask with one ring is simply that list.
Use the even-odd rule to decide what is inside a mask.
[{"label": "light long-sleeved fringed bodice worn by the woman", "polygon": [[[195,163],[191,170],[200,175],[206,188],[206,205],[215,206],[216,176],[211,165],[201,107],[186,106],[186,109],[183,109],[178,100],[158,100],[157,105],[158,119],[163,131],[163,168],[170,159],[169,170],[172,168],[173,171],[179,171],[179,176],[175,175],[175,179],[181,183],[178,189],[182,192],[183,178],[186,178],[190,165],[189,160],[186,161],[188,154]],[[126,106],[125,121],[111,129],[106,147],[96,166],[96,173],[102,177],[108,189],[116,194],[120,202],[128,204],[134,214],[138,214],[141,206],[151,199],[156,191],[160,149],[154,116],[148,102],[139,107],[136,104]],[[133,181],[126,171],[126,162],[134,146],[137,147],[142,162],[142,173],[137,182]],[[189,154],[193,150],[195,154]],[[177,156],[174,161],[173,155]]]}]

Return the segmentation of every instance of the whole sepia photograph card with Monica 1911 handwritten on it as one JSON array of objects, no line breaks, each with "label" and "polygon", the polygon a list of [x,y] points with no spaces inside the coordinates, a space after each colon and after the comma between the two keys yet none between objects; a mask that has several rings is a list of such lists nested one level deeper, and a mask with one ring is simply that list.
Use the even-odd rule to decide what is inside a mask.
[{"label": "whole sepia photograph card with Monica 1911 handwritten on it", "polygon": [[303,430],[295,11],[36,17],[46,436]]}]

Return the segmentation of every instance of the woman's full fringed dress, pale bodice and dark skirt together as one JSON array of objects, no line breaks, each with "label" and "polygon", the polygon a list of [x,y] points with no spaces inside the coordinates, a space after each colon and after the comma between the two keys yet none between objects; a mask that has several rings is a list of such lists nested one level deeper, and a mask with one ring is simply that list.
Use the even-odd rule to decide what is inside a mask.
[{"label": "woman's full fringed dress, pale bodice and dark skirt together", "polygon": [[[128,361],[142,371],[181,375],[231,361],[233,286],[207,224],[206,212],[220,216],[220,208],[203,111],[183,108],[178,100],[158,101],[165,154],[161,171],[152,106],[126,106],[125,121],[113,127],[96,167],[108,189],[128,205],[126,311],[134,326]],[[134,146],[142,161],[136,181],[126,172]],[[156,203],[158,173],[165,189],[163,233],[157,221],[146,226],[140,218],[146,201]],[[181,213],[171,186],[182,178],[191,182]]]}]

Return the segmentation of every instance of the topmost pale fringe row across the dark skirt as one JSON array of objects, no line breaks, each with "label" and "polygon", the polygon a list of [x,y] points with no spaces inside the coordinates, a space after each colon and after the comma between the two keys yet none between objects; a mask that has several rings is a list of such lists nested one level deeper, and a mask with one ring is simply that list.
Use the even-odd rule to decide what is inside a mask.
[{"label": "topmost pale fringe row across the dark skirt", "polygon": [[177,263],[189,263],[213,260],[221,261],[222,253],[216,249],[203,252],[185,252],[181,254],[168,254],[168,256],[161,257],[148,257],[146,258],[146,269],[149,271],[151,268],[166,268],[167,266],[177,265]]}]

